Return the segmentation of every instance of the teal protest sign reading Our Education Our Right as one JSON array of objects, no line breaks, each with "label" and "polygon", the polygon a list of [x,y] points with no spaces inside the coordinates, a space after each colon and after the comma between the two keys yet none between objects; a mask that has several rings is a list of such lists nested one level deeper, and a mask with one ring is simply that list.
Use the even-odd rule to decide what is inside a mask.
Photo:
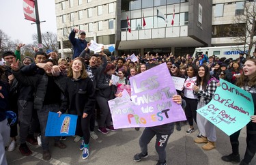
[{"label": "teal protest sign reading Our Education Our Right", "polygon": [[206,106],[197,112],[223,130],[227,135],[242,129],[254,114],[254,104],[251,93],[240,89],[225,80],[220,81],[212,97]]}]

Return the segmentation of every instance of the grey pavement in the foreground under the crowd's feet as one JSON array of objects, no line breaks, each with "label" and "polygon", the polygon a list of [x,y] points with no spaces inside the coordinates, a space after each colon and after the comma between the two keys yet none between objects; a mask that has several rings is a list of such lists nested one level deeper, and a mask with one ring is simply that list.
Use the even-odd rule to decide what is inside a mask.
[{"label": "grey pavement in the foreground under the crowd's feet", "polygon": [[[202,145],[197,145],[193,142],[193,139],[197,136],[197,130],[190,135],[186,135],[186,129],[188,125],[182,126],[182,130],[177,132],[175,130],[169,138],[169,144],[167,145],[167,164],[173,165],[225,165],[231,164],[221,160],[221,156],[231,153],[231,145],[229,142],[229,136],[216,128],[217,141],[216,149],[212,151],[203,151]],[[66,145],[66,149],[59,149],[53,146],[53,139],[50,142],[50,150],[52,158],[50,161],[45,162],[42,160],[42,147],[29,146],[33,155],[22,156],[18,147],[15,151],[6,151],[8,164],[20,165],[20,164],[122,164],[122,165],[154,165],[158,160],[156,150],[154,149],[155,140],[153,138],[148,145],[149,157],[141,160],[141,162],[134,162],[133,156],[140,152],[139,149],[139,137],[140,131],[135,131],[132,128],[121,129],[116,132],[109,132],[109,134],[98,134],[98,140],[90,139],[90,156],[87,160],[82,160],[82,151],[79,150],[80,142],[73,142],[73,137],[68,137],[63,141]],[[18,141],[18,140],[17,140]],[[246,149],[246,130],[243,129],[240,134],[240,155],[241,159],[244,156]],[[251,164],[256,164],[256,157],[254,157]]]}]

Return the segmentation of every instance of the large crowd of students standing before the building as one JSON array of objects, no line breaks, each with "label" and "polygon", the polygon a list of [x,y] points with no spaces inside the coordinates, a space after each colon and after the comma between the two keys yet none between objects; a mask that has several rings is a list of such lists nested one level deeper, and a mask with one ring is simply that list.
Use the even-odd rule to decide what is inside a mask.
[{"label": "large crowd of students standing before the building", "polygon": [[[85,35],[85,32],[80,31],[80,34]],[[104,54],[104,48],[99,54],[89,55],[89,43],[83,44],[86,44],[86,48],[72,61],[58,59],[56,52],[48,55],[45,52],[35,52],[34,58],[21,59],[22,44],[17,46],[15,52],[3,52],[2,57],[6,63],[0,67],[0,136],[4,139],[0,138],[3,139],[0,140],[0,153],[3,155],[0,164],[7,164],[4,152],[8,141],[6,135],[11,138],[8,151],[14,151],[17,145],[17,122],[6,127],[4,124],[8,122],[5,119],[6,110],[12,110],[18,115],[20,153],[31,155],[32,152],[26,142],[32,145],[42,142],[44,160],[51,159],[49,138],[45,136],[48,112],[78,115],[74,141],[78,142],[82,138],[79,149],[83,151],[82,158],[86,159],[89,156],[89,138],[98,139],[98,135],[94,132],[96,122],[98,122],[97,130],[102,134],[115,131],[111,124],[108,101],[120,96],[117,87],[130,85],[131,76],[141,74],[160,63],[167,63],[171,76],[185,78],[184,89],[177,91],[178,95],[173,99],[184,108],[189,124],[186,134],[195,132],[195,121],[199,132],[194,141],[205,143],[202,149],[206,151],[216,147],[215,127],[196,110],[210,102],[220,78],[252,93],[254,101],[256,98],[256,55],[247,60],[242,55],[238,59],[218,59],[214,56],[205,58],[205,55],[193,59],[190,55],[175,57],[172,54],[158,55],[147,52],[145,55],[137,55],[138,61],[132,62],[129,55],[108,57]],[[113,74],[119,76],[117,85],[111,80]],[[252,116],[251,119],[252,121],[247,125],[247,148],[244,159],[240,162],[238,152],[240,131],[238,131],[230,136],[232,153],[223,156],[223,161],[240,162],[240,164],[251,162],[256,151],[256,117]],[[180,131],[181,123],[175,124],[176,130]],[[158,164],[166,164],[165,147],[169,136],[173,133],[173,127],[174,123],[146,127],[139,141],[141,153],[134,155],[134,161],[139,162],[141,158],[147,157],[147,144],[156,135]],[[39,134],[40,138],[35,138],[35,134]],[[61,142],[65,139],[66,137],[55,137],[55,147],[65,149],[66,145]],[[158,141],[163,139],[165,142],[159,147]]]}]

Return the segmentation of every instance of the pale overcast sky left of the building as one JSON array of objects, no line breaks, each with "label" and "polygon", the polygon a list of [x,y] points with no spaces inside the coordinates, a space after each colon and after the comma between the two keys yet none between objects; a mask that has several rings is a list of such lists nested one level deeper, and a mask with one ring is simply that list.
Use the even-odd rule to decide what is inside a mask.
[{"label": "pale overcast sky left of the building", "polygon": [[[1,0],[0,1],[0,29],[6,33],[10,40],[19,40],[23,44],[33,42],[32,35],[37,33],[36,25],[30,20],[25,20],[23,14],[23,0]],[[55,1],[38,0],[38,10],[41,23],[41,33],[57,33]]]}]

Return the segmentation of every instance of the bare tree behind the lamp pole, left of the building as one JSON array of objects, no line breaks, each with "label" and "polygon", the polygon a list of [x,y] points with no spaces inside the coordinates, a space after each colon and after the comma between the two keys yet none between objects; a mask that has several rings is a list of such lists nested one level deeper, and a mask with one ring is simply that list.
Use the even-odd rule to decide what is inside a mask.
[{"label": "bare tree behind the lamp pole, left of the building", "polygon": [[[38,35],[33,34],[32,38],[33,38],[33,44],[37,45]],[[42,45],[43,45],[43,50],[53,50],[57,52],[58,50],[57,34],[51,33],[51,32],[42,33]]]}]

